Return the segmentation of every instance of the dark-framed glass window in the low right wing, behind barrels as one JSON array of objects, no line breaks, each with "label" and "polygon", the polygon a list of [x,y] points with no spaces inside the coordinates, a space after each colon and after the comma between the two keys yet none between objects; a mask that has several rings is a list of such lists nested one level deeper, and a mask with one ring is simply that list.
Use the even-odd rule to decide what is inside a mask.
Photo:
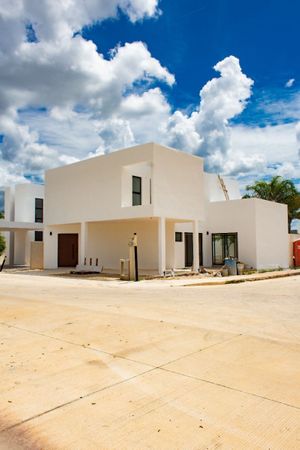
[{"label": "dark-framed glass window in the low right wing, behind barrels", "polygon": [[213,264],[224,264],[225,258],[237,258],[237,233],[212,234]]}]

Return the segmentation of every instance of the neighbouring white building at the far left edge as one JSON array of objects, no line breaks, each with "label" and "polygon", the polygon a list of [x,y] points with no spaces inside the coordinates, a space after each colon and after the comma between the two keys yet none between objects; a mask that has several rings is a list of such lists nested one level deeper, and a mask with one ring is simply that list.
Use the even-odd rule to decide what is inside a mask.
[{"label": "neighbouring white building at the far left edge", "polygon": [[26,183],[5,188],[0,232],[6,239],[7,264],[30,264],[31,242],[43,240],[43,202],[42,185]]}]

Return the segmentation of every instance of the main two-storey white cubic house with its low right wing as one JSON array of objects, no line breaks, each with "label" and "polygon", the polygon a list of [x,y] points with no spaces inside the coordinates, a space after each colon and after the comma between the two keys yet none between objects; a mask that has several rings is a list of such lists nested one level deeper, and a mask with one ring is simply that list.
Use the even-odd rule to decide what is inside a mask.
[{"label": "main two-storey white cubic house with its low right wing", "polygon": [[286,205],[241,199],[237,182],[205,173],[200,157],[149,143],[46,172],[45,268],[98,260],[118,272],[134,233],[141,273],[228,256],[289,266]]}]

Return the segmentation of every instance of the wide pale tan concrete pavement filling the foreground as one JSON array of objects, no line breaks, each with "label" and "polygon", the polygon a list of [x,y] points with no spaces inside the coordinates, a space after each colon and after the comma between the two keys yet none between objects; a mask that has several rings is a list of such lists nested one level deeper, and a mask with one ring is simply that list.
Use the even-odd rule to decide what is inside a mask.
[{"label": "wide pale tan concrete pavement filling the foreground", "polygon": [[300,277],[0,274],[1,449],[299,449]]}]

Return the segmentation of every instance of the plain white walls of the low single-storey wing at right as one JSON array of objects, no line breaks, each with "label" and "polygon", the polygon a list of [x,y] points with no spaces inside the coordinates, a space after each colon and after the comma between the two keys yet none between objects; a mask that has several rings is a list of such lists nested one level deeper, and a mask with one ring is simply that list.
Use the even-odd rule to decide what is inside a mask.
[{"label": "plain white walls of the low single-storey wing at right", "polygon": [[287,207],[256,198],[209,205],[212,233],[238,233],[238,258],[256,269],[288,267]]}]

